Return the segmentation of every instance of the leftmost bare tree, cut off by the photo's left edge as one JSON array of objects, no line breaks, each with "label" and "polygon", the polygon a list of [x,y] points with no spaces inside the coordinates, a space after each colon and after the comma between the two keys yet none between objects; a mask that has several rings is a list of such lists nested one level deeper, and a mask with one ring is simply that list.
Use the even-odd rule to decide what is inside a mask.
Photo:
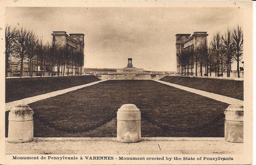
[{"label": "leftmost bare tree, cut off by the photo's left edge", "polygon": [[8,76],[8,61],[15,52],[16,28],[5,26],[5,77]]}]

